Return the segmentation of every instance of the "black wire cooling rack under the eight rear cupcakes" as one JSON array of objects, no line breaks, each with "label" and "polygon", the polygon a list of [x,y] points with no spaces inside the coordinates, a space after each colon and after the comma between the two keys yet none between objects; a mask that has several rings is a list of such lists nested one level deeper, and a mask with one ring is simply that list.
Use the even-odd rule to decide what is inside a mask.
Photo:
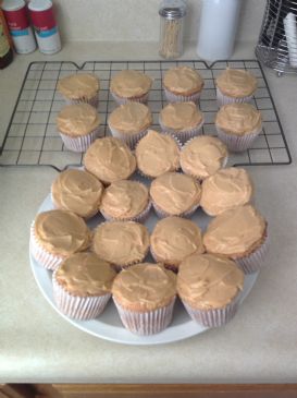
[{"label": "black wire cooling rack under the eight rear cupcakes", "polygon": [[200,109],[205,113],[203,134],[214,134],[218,111],[214,80],[226,67],[249,70],[258,80],[252,104],[261,111],[263,131],[252,147],[244,153],[231,154],[230,165],[260,166],[292,162],[271,93],[261,65],[256,60],[218,61],[212,65],[203,61],[89,61],[78,67],[74,62],[33,62],[25,74],[15,108],[1,148],[0,165],[51,166],[63,170],[82,165],[83,154],[67,150],[55,128],[55,118],[64,106],[57,91],[59,79],[71,73],[94,72],[100,79],[98,112],[103,121],[102,136],[108,135],[107,120],[116,107],[109,93],[111,77],[121,70],[140,70],[153,79],[148,106],[152,111],[152,129],[159,129],[158,116],[166,104],[162,93],[164,72],[176,65],[195,68],[205,80]]}]

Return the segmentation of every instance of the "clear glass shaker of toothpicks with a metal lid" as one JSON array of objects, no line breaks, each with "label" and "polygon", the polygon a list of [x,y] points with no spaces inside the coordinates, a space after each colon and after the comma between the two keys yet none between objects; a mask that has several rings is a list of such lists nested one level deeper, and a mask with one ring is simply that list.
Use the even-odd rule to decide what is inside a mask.
[{"label": "clear glass shaker of toothpicks with a metal lid", "polygon": [[184,0],[163,0],[160,4],[159,53],[166,59],[178,58],[183,53],[184,16],[187,5]]}]

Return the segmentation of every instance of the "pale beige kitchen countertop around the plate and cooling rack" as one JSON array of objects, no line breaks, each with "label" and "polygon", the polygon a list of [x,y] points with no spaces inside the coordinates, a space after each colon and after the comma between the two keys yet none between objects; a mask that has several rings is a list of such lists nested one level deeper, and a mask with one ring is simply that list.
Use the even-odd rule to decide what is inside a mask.
[{"label": "pale beige kitchen countertop around the plate and cooling rack", "polygon": [[[39,52],[16,57],[0,72],[1,137],[29,62],[158,59],[154,55],[154,44],[71,43],[50,58]],[[183,58],[197,58],[191,46]],[[243,45],[233,58],[255,58],[252,45]],[[271,249],[251,293],[225,327],[175,343],[133,347],[92,337],[65,322],[44,299],[28,260],[29,225],[57,171],[0,168],[0,383],[296,381],[297,76],[277,79],[270,70],[265,75],[293,165],[248,167],[257,207],[269,220]]]}]

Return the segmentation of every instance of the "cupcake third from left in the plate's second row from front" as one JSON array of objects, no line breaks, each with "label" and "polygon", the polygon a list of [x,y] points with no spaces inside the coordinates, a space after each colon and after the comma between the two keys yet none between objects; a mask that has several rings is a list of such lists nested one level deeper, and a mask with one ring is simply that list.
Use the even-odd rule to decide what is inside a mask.
[{"label": "cupcake third from left in the plate's second row from front", "polygon": [[203,253],[200,228],[181,217],[168,217],[157,222],[150,237],[150,251],[156,262],[177,272],[184,258]]}]

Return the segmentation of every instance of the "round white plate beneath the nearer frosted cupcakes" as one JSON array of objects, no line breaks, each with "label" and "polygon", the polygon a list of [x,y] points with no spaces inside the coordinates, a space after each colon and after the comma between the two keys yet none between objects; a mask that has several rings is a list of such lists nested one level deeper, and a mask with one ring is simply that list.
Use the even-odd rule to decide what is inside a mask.
[{"label": "round white plate beneath the nearer frosted cupcakes", "polygon": [[[38,213],[46,212],[54,208],[50,198],[50,195],[46,197],[44,203],[41,204]],[[194,217],[191,218],[196,221],[199,227],[203,230],[209,221],[209,217],[207,217],[202,210],[196,212]],[[101,222],[103,219],[101,216],[94,217],[88,225],[90,228],[94,228],[96,225]],[[146,222],[146,226],[151,231],[153,229],[154,224],[157,222],[158,218],[154,215],[153,210],[151,210],[151,215]],[[51,272],[42,268],[38,263],[30,257],[30,266],[37,285],[39,286],[42,294],[47,299],[47,301],[53,306],[53,309],[63,316],[67,322],[76,326],[77,328],[87,331],[90,335],[103,338],[106,340],[126,343],[126,345],[138,345],[138,346],[149,346],[149,345],[160,345],[160,343],[168,343],[173,341],[178,341],[186,339],[188,337],[199,335],[200,333],[207,330],[207,327],[202,327],[191,321],[188,316],[186,311],[183,307],[183,304],[180,300],[176,301],[173,314],[173,322],[172,324],[163,331],[152,335],[152,336],[145,336],[140,337],[137,335],[132,334],[131,331],[126,330],[116,313],[116,309],[110,300],[107,309],[104,310],[103,314],[99,316],[98,319],[92,321],[74,321],[65,316],[61,313],[53,301],[52,296],[52,285],[51,285]],[[149,256],[148,261],[152,261]],[[245,278],[245,286],[242,296],[240,303],[245,300],[245,298],[249,294],[256,279],[258,277],[257,274],[251,274],[246,276]],[[240,309],[239,309],[240,311]]]}]

